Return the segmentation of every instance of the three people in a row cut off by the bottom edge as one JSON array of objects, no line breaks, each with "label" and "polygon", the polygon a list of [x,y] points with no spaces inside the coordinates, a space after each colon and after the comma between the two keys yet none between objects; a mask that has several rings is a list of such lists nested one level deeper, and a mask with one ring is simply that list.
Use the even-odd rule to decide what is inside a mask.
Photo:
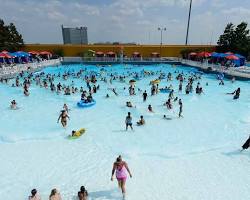
[{"label": "three people in a row cut off by the bottom edge", "polygon": [[[88,191],[84,186],[80,187],[80,191],[77,194],[78,200],[87,200],[88,199]],[[29,200],[41,200],[40,195],[38,194],[36,189],[31,190],[31,195],[28,198]],[[49,200],[62,200],[60,192],[54,188],[51,190],[49,195]]]}]

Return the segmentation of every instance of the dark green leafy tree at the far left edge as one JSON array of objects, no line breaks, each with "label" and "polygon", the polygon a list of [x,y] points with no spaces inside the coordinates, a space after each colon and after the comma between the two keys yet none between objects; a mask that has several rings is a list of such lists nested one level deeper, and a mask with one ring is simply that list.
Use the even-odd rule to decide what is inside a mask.
[{"label": "dark green leafy tree at the far left edge", "polygon": [[15,25],[5,25],[0,19],[0,50],[17,51],[24,46],[22,35],[17,31]]}]

